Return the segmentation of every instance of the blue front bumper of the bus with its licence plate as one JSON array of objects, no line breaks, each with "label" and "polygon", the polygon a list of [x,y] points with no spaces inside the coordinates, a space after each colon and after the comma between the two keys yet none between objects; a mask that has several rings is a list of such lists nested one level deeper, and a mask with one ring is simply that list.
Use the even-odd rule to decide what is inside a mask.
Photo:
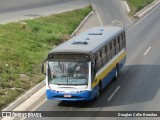
[{"label": "blue front bumper of the bus with its licence plate", "polygon": [[52,100],[64,100],[64,101],[82,101],[92,100],[94,98],[92,91],[81,91],[78,93],[59,93],[58,91],[46,90],[46,96]]}]

